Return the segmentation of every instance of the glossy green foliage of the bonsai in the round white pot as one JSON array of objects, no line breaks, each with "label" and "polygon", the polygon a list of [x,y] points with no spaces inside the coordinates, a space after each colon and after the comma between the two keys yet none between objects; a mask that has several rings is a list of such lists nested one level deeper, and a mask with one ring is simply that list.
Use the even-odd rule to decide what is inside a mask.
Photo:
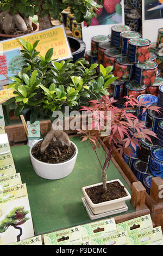
[{"label": "glossy green foliage of the bonsai in the round white pot", "polygon": [[103,74],[96,75],[96,63],[89,65],[84,58],[76,63],[71,63],[71,60],[57,62],[51,59],[53,49],[49,49],[45,57],[39,55],[35,50],[39,41],[30,44],[21,39],[21,42],[25,64],[17,76],[10,78],[13,82],[8,88],[14,88],[15,97],[4,103],[16,103],[16,116],[30,111],[32,123],[38,116],[53,120],[56,110],[64,111],[65,106],[79,110],[88,100],[109,94],[108,86],[116,79],[109,74],[110,67],[105,68]]}]

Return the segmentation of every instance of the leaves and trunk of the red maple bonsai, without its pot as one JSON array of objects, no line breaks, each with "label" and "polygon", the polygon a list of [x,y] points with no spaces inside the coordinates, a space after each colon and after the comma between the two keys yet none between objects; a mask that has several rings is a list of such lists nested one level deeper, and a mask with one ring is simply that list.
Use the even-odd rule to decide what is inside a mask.
[{"label": "leaves and trunk of the red maple bonsai, without its pot", "polygon": [[[147,102],[142,103],[142,99],[137,100],[132,96],[124,98],[126,98],[124,109],[117,108],[115,106],[117,101],[108,96],[103,96],[99,101],[91,100],[90,106],[83,106],[81,109],[82,111],[91,114],[91,124],[86,124],[86,127],[82,128],[80,132],[83,133],[82,142],[85,140],[90,141],[101,165],[104,192],[107,190],[106,170],[109,168],[114,147],[121,153],[121,155],[125,149],[131,156],[131,153],[133,153],[131,147],[136,151],[136,146],[140,147],[139,140],[141,138],[151,141],[151,136],[156,137],[156,134],[152,132],[151,129],[146,128],[144,122],[140,122],[136,116],[127,111],[127,106],[137,108],[139,111],[141,109],[142,114],[147,109],[159,112],[158,106],[146,105]],[[106,147],[106,143],[108,144],[108,142],[110,145],[109,151],[105,155],[105,162],[102,165],[97,154],[97,148],[100,148],[102,145]]]}]

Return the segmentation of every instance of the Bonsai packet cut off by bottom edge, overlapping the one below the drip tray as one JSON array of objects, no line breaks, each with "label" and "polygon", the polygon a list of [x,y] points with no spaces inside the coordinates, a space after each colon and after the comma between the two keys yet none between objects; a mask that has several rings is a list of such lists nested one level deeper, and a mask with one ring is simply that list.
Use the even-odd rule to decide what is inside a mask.
[{"label": "Bonsai packet cut off by bottom edge, overlapping the one below the drip tray", "polygon": [[127,245],[127,232],[122,231],[91,240],[91,245]]}]

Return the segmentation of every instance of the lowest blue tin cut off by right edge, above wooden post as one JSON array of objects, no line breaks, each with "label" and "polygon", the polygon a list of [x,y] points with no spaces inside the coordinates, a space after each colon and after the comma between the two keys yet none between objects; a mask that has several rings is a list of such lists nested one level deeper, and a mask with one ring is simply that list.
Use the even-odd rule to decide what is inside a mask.
[{"label": "lowest blue tin cut off by right edge, above wooden post", "polygon": [[163,147],[157,147],[151,151],[149,169],[153,176],[163,178]]}]

